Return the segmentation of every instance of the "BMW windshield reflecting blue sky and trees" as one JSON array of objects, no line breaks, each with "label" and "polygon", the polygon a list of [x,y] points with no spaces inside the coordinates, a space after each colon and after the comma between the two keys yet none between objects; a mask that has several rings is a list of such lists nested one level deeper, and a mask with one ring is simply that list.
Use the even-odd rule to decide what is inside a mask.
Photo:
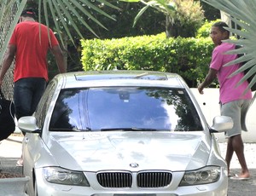
[{"label": "BMW windshield reflecting blue sky and trees", "polygon": [[62,89],[50,131],[195,131],[201,120],[185,89]]}]

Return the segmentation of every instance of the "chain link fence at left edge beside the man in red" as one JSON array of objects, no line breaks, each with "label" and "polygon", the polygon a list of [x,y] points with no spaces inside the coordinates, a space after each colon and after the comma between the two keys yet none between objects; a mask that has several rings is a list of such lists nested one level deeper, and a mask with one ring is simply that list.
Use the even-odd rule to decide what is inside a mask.
[{"label": "chain link fence at left edge beside the man in red", "polygon": [[[9,29],[12,21],[14,20],[15,14],[18,11],[19,1],[14,2],[3,15],[2,23],[0,24],[0,50],[3,49],[3,43],[9,34]],[[1,4],[0,4],[1,7]],[[2,66],[3,59],[0,60],[0,66]],[[10,66],[8,72],[6,72],[3,78],[2,92],[6,99],[13,100],[14,95],[14,63]]]}]

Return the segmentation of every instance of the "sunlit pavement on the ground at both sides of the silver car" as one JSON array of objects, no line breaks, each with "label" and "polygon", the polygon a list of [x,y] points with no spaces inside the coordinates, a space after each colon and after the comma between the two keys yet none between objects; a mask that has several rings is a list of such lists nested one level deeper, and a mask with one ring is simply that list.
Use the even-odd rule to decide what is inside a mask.
[{"label": "sunlit pavement on the ground at both sides of the silver car", "polygon": [[[18,133],[0,141],[0,170],[3,172],[22,174],[22,167],[16,167],[16,161],[21,155],[22,140],[23,135]],[[226,146],[226,142],[219,142],[220,153],[223,157],[225,156]],[[229,196],[254,196],[256,194],[256,143],[245,143],[244,151],[251,178],[247,181],[229,180]],[[240,168],[236,154],[234,154],[230,172],[239,174]]]}]

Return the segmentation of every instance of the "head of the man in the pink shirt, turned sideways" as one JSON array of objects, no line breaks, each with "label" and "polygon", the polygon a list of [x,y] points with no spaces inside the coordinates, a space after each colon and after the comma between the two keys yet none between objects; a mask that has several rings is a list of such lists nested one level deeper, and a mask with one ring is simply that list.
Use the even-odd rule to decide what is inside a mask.
[{"label": "head of the man in the pink shirt, turned sideways", "polygon": [[213,43],[217,46],[220,45],[222,40],[230,38],[230,32],[224,27],[229,27],[226,23],[219,21],[212,25],[210,36]]}]

